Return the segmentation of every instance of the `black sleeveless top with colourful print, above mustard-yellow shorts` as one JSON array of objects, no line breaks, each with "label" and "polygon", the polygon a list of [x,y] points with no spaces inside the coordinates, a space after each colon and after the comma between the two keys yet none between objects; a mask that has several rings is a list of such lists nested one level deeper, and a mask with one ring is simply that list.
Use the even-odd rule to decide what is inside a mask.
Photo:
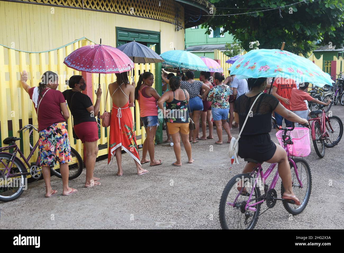
[{"label": "black sleeveless top with colourful print, above mustard-yellow shorts", "polygon": [[169,123],[189,123],[189,112],[187,112],[186,94],[183,89],[185,100],[178,100],[174,98],[171,102],[166,101],[166,119]]}]

